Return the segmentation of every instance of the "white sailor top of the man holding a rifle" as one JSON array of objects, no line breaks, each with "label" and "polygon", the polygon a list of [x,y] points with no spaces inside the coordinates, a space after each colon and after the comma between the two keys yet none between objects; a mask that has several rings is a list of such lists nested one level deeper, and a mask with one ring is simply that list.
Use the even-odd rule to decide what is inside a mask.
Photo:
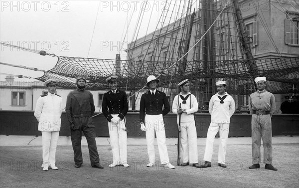
[{"label": "white sailor top of the man holding a rifle", "polygon": [[[182,95],[181,93],[179,93],[178,95]],[[181,122],[193,122],[194,121],[194,115],[193,113],[197,112],[198,110],[198,103],[196,100],[196,97],[191,94],[190,92],[188,92],[186,95],[182,95],[183,97],[186,97],[187,95],[190,95],[187,100],[186,103],[183,104],[183,100],[176,95],[173,99],[173,103],[172,103],[172,112],[174,114],[177,114],[176,110],[179,107],[179,104],[181,105],[181,109],[186,110],[186,114],[182,113],[181,114]],[[177,102],[177,98],[178,98],[178,102]],[[190,99],[191,99],[191,108],[190,108]],[[179,116],[177,116],[177,122],[178,122]]]}]

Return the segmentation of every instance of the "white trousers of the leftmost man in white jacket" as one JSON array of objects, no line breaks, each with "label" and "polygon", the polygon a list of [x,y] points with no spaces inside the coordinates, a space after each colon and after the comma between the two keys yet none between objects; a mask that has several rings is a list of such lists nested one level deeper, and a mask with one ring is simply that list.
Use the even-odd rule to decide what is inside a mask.
[{"label": "white trousers of the leftmost man in white jacket", "polygon": [[55,167],[55,155],[59,138],[59,131],[41,132],[43,168]]}]

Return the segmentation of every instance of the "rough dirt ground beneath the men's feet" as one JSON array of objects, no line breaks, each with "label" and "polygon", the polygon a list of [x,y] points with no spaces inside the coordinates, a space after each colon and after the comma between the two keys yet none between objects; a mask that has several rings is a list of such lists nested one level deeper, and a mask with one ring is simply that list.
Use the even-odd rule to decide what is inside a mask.
[{"label": "rough dirt ground beneath the men's feet", "polygon": [[[202,160],[204,145],[198,146],[198,159]],[[156,164],[159,164],[157,147]],[[273,145],[273,166],[277,172],[261,169],[249,170],[251,145],[228,145],[228,168],[217,165],[218,145],[213,148],[212,167],[176,166],[176,146],[167,146],[170,163],[175,169],[161,165],[152,168],[148,163],[147,146],[128,146],[130,168],[109,168],[112,163],[110,146],[98,146],[104,169],[91,168],[88,147],[82,146],[83,166],[74,168],[71,146],[58,146],[56,166],[59,170],[41,170],[41,146],[0,147],[1,188],[298,188],[299,145]],[[263,154],[263,147],[261,150]],[[201,162],[202,163],[202,162]]]}]

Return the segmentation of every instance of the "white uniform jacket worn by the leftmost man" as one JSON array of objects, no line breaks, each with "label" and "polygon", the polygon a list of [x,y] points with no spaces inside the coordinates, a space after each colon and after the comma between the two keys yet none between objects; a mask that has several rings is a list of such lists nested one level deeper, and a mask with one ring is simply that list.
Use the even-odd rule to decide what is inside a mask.
[{"label": "white uniform jacket worn by the leftmost man", "polygon": [[41,95],[37,99],[34,116],[38,121],[38,131],[60,131],[62,99],[57,94]]}]

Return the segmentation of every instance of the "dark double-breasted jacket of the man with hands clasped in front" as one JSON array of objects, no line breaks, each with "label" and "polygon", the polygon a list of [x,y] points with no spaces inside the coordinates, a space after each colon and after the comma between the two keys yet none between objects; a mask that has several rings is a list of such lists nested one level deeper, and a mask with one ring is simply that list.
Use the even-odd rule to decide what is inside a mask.
[{"label": "dark double-breasted jacket of the man with hands clasped in front", "polygon": [[118,117],[123,120],[128,110],[129,104],[126,92],[117,89],[115,94],[111,90],[104,94],[102,111],[109,122],[113,118],[111,114],[119,114]]}]

